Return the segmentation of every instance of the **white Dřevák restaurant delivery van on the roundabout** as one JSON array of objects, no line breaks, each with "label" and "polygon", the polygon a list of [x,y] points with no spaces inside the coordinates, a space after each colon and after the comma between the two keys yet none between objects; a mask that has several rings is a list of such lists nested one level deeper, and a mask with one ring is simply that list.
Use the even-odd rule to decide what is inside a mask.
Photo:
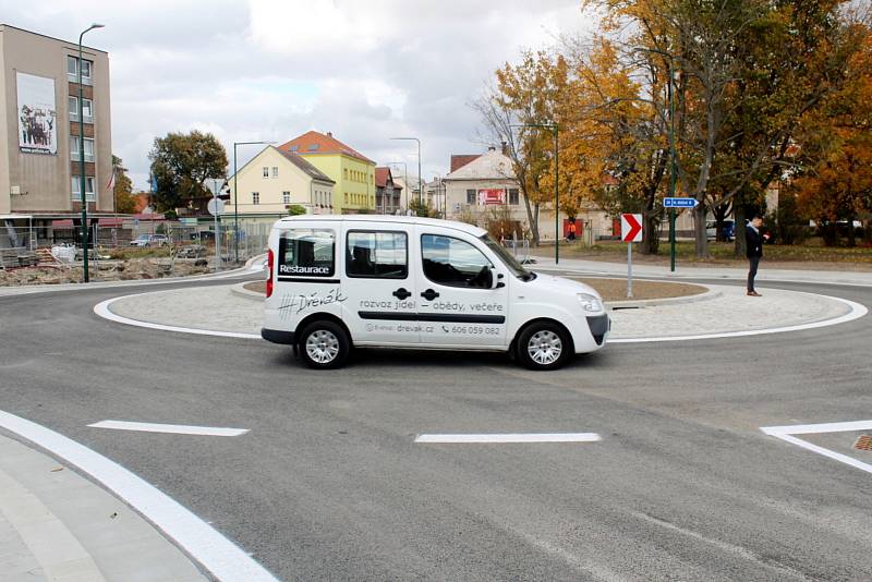
[{"label": "white D\u0159ev\u00e1k restaurant delivery van on the roundabout", "polygon": [[314,368],[353,347],[504,351],[553,369],[600,350],[590,287],[526,270],[485,230],[373,215],[283,218],[269,234],[262,336]]}]

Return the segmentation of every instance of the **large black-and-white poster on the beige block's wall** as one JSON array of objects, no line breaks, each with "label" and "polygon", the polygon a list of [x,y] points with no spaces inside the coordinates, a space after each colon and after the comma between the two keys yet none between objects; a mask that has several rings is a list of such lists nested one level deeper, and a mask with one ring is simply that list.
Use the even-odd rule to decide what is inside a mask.
[{"label": "large black-and-white poster on the beige block's wall", "polygon": [[55,80],[17,73],[19,148],[25,154],[58,153]]}]

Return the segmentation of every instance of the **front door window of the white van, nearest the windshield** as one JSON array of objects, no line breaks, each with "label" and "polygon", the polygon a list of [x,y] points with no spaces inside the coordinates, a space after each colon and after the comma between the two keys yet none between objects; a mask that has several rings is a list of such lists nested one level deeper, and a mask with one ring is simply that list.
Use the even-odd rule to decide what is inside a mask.
[{"label": "front door window of the white van, nearest the windshield", "polygon": [[491,287],[491,262],[481,251],[460,239],[421,235],[424,276],[448,287]]}]

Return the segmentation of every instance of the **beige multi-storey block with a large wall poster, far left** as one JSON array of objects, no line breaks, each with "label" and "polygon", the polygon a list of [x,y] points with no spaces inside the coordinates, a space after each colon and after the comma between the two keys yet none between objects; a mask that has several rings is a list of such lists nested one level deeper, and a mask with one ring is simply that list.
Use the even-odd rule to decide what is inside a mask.
[{"label": "beige multi-storey block with a large wall poster, far left", "polygon": [[53,219],[81,213],[80,123],[87,209],[94,217],[109,216],[114,211],[108,185],[109,54],[83,47],[80,63],[76,43],[0,24],[0,216],[13,217],[3,221],[27,215],[41,239]]}]

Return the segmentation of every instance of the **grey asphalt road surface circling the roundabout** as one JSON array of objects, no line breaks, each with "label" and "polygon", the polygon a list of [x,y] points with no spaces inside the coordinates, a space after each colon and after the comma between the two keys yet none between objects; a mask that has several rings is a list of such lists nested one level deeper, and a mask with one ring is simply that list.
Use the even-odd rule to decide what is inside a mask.
[{"label": "grey asphalt road surface circling the roundabout", "polygon": [[[767,287],[872,306],[864,288]],[[279,578],[872,579],[872,474],[760,432],[872,419],[872,317],[614,344],[554,373],[399,351],[360,351],[325,373],[266,342],[92,313],[133,292],[1,298],[0,410],[136,472]],[[251,432],[86,426],[107,419]],[[514,432],[603,440],[413,442]],[[831,445],[850,452],[849,437]]]}]

